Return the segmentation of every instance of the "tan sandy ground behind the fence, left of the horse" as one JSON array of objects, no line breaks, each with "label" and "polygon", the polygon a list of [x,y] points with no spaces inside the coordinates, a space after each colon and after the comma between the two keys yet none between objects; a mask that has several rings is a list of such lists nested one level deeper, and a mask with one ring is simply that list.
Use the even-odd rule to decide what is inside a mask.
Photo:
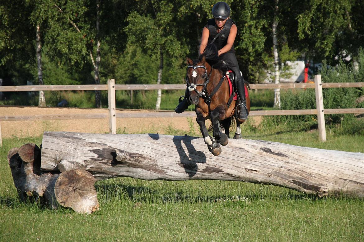
[{"label": "tan sandy ground behind the fence, left of the horse", "polygon": [[[153,112],[149,110],[117,110],[118,113]],[[0,116],[7,115],[40,115],[40,114],[107,114],[107,108],[58,108],[58,107],[7,107],[0,106]],[[255,122],[258,117],[252,117]],[[189,121],[190,120],[190,121]],[[118,133],[168,134],[171,130],[189,132],[190,125],[199,134],[199,127],[195,118],[118,118],[116,130]],[[210,123],[206,122],[206,126]],[[108,133],[108,119],[65,119],[65,120],[25,120],[1,121],[1,135],[3,138],[40,136],[44,131],[68,131],[83,133]],[[183,135],[183,134],[181,134]]]}]

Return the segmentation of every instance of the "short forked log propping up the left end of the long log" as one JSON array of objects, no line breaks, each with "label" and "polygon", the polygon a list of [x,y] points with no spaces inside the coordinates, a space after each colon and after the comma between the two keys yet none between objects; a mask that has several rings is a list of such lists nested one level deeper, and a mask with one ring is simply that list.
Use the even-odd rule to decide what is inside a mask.
[{"label": "short forked log propping up the left end of the long log", "polygon": [[[64,173],[40,171],[40,149],[35,144],[12,148],[8,162],[19,199],[37,202],[53,209],[59,205],[78,213],[92,213],[99,208],[94,177],[84,169]],[[70,196],[63,196],[65,187]],[[72,192],[73,191],[73,192]]]}]

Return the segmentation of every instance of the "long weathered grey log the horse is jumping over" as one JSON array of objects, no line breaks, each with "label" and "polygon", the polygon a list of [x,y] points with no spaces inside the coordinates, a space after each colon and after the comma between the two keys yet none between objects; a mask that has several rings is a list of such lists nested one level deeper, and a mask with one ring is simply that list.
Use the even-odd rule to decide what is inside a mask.
[{"label": "long weathered grey log the horse is jumping over", "polygon": [[364,197],[363,153],[229,139],[213,156],[202,138],[190,136],[44,132],[41,169],[80,168],[95,180],[230,180]]}]

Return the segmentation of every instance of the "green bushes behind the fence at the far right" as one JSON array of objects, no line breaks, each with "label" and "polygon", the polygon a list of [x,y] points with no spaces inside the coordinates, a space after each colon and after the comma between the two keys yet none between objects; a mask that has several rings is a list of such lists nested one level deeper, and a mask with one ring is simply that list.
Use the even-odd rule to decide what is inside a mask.
[{"label": "green bushes behind the fence at the far right", "polygon": [[[319,70],[323,82],[362,82],[364,78],[364,52],[360,50],[358,56],[359,69],[354,70],[352,65],[345,65],[340,62],[335,67],[328,66],[323,62],[323,67]],[[324,88],[324,107],[328,108],[361,108],[364,102],[356,100],[364,94],[363,88]],[[290,109],[316,109],[316,96],[314,89],[294,89],[281,93],[281,108]],[[351,125],[356,121],[352,114],[327,114],[325,122],[327,124],[340,124],[348,128],[355,128]],[[345,120],[345,124],[342,121]],[[289,115],[276,116],[271,122],[287,123],[289,128],[309,130],[317,126],[316,115]],[[359,125],[360,127],[360,125]],[[356,128],[355,128],[356,129]],[[348,131],[351,132],[351,131]]]}]

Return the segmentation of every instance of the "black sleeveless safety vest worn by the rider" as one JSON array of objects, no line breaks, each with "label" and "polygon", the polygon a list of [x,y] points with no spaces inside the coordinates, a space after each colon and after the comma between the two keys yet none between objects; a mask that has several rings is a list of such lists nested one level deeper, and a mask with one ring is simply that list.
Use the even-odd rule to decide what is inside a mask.
[{"label": "black sleeveless safety vest worn by the rider", "polygon": [[[223,48],[227,44],[227,37],[229,37],[230,29],[231,29],[231,26],[233,26],[233,24],[234,24],[233,20],[231,20],[231,19],[226,20],[225,25],[224,25],[223,29],[221,30],[220,35],[213,42],[213,44],[216,46],[216,48],[218,50]],[[210,32],[208,43],[211,43],[211,41],[218,34],[215,20],[209,19],[209,21],[207,21],[207,24],[205,26],[207,29],[209,29],[209,32]],[[232,48],[226,53],[234,53],[234,52],[235,51],[234,51],[234,45],[233,45]]]}]

